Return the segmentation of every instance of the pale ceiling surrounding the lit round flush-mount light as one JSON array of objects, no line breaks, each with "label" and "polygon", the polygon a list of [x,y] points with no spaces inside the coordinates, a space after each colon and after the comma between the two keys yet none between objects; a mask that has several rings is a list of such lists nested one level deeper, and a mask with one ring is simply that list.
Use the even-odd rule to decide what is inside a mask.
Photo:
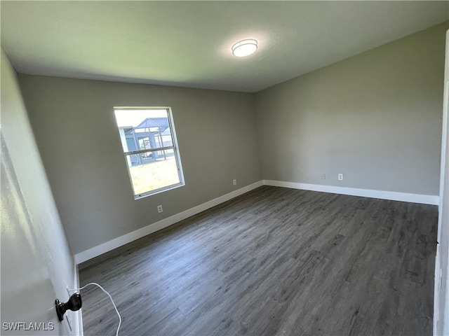
[{"label": "pale ceiling surrounding the lit round flush-mount light", "polygon": [[[1,1],[20,73],[257,92],[449,18],[448,1]],[[259,48],[234,57],[231,46]]]}]

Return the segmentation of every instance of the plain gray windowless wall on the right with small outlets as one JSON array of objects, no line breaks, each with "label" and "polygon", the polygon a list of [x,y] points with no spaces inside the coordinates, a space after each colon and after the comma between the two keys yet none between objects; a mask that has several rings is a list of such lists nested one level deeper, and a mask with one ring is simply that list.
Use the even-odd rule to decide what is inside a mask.
[{"label": "plain gray windowless wall on the right with small outlets", "polygon": [[438,195],[447,27],[257,93],[263,178]]}]

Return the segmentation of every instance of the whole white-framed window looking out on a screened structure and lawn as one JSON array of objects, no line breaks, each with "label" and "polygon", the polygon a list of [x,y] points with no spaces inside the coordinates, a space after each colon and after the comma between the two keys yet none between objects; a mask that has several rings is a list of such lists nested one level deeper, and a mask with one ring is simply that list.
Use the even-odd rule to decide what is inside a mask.
[{"label": "whole white-framed window looking out on a screened structure and lawn", "polygon": [[184,186],[171,109],[115,107],[134,198]]}]

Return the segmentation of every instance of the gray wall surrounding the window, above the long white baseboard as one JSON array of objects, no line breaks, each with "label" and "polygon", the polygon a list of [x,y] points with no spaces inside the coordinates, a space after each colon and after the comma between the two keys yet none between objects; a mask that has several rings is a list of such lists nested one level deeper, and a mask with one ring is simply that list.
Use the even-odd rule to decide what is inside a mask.
[{"label": "gray wall surrounding the window, above the long white baseboard", "polygon": [[[262,178],[251,94],[43,76],[19,80],[74,253]],[[134,200],[114,106],[172,107],[184,187]]]}]

